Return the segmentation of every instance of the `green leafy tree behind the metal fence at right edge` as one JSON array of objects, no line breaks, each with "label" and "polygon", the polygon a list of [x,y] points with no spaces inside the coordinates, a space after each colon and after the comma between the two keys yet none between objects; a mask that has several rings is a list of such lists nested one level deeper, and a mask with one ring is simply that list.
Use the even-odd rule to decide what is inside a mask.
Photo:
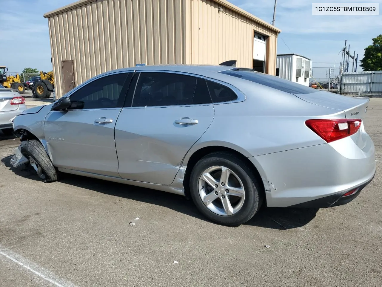
[{"label": "green leafy tree behind the metal fence at right edge", "polygon": [[373,44],[365,49],[361,67],[364,71],[382,70],[382,34],[372,39]]}]

